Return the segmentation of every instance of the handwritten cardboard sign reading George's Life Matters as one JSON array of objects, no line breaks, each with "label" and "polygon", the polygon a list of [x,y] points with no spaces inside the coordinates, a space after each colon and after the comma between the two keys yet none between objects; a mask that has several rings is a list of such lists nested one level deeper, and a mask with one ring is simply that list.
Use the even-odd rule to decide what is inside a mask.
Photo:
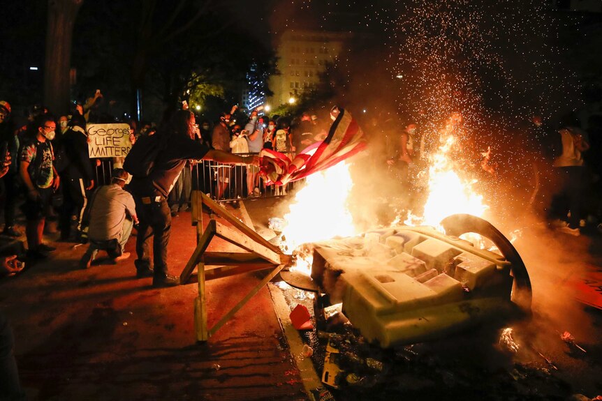
[{"label": "handwritten cardboard sign reading George's Life Matters", "polygon": [[128,124],[88,124],[86,130],[90,158],[124,158],[132,149]]}]

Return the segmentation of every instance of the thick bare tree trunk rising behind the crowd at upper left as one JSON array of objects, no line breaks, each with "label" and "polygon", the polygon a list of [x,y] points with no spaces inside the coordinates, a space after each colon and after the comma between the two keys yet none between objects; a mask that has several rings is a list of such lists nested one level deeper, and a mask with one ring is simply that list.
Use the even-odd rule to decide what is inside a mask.
[{"label": "thick bare tree trunk rising behind the crowd at upper left", "polygon": [[73,25],[83,0],[48,0],[44,103],[57,116],[68,114]]}]

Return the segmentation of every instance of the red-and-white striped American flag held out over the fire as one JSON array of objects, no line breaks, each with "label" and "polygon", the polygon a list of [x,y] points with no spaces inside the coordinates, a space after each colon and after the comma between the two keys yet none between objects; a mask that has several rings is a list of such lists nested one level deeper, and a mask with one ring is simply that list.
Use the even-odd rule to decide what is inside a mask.
[{"label": "red-and-white striped American flag held out over the fire", "polygon": [[357,121],[342,108],[330,126],[328,136],[321,142],[307,146],[293,160],[271,149],[262,149],[260,174],[267,185],[284,185],[309,174],[328,169],[366,147],[366,139]]}]

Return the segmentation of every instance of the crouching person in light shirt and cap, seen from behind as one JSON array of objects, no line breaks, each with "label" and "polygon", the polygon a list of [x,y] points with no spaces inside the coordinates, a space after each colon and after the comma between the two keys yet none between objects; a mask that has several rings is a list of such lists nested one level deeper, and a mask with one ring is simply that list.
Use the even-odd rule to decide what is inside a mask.
[{"label": "crouching person in light shirt and cap, seen from behind", "polygon": [[138,224],[132,195],[124,190],[128,173],[113,169],[111,183],[94,192],[88,216],[89,247],[80,267],[89,268],[98,250],[105,250],[113,262],[127,259],[125,252],[132,227]]}]

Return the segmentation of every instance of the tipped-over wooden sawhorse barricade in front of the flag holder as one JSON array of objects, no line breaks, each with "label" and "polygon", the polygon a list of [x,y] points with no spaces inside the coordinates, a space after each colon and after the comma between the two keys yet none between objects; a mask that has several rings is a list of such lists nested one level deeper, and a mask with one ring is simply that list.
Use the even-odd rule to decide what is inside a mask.
[{"label": "tipped-over wooden sawhorse barricade in front of the flag holder", "polygon": [[[209,221],[207,229],[203,232],[203,205],[214,211],[216,215],[229,222],[235,229],[220,224],[214,219]],[[291,255],[284,254],[280,248],[273,245],[254,229],[244,225],[223,206],[214,202],[203,192],[195,190],[191,195],[192,224],[196,226],[196,249],[179,276],[180,282],[189,282],[194,268],[197,269],[198,297],[194,304],[194,324],[197,341],[207,341],[223,324],[226,323],[245,303],[257,294],[282,268],[290,266]],[[247,252],[207,252],[207,248],[214,236],[226,240]],[[207,326],[207,297],[205,281],[222,278],[228,275],[248,273],[270,268],[251,292],[244,296],[234,308],[223,315],[212,328]]]}]

